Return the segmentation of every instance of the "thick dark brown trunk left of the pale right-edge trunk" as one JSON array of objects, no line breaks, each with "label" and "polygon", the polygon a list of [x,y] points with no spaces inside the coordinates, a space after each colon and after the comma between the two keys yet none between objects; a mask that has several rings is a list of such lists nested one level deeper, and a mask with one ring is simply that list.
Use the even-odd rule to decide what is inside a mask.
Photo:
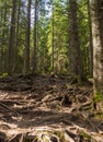
[{"label": "thick dark brown trunk left of the pale right-edge trunk", "polygon": [[72,79],[81,80],[84,76],[77,24],[77,0],[69,0],[70,74]]}]

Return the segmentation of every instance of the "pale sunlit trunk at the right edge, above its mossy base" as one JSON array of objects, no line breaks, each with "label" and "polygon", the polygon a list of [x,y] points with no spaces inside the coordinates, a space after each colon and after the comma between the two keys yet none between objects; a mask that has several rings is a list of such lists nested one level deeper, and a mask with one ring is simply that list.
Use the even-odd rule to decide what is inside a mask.
[{"label": "pale sunlit trunk at the right edge, above its mossy base", "polygon": [[103,95],[103,1],[90,0],[93,35],[94,95]]}]

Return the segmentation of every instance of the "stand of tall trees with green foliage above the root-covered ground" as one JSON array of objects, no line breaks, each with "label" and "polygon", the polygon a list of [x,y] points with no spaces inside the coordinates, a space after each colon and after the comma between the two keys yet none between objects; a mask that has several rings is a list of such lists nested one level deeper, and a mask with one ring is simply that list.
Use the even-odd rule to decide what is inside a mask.
[{"label": "stand of tall trees with green foliage above the root-covered ground", "polygon": [[103,91],[102,1],[1,0],[0,74],[93,78]]}]

